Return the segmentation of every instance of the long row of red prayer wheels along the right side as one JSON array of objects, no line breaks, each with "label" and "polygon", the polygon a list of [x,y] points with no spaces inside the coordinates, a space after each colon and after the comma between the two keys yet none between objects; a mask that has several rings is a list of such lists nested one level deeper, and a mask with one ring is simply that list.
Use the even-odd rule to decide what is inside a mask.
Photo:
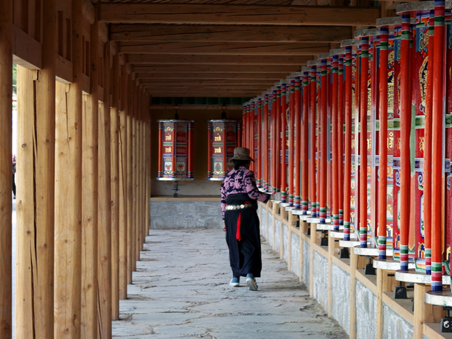
[{"label": "long row of red prayer wheels along the right side", "polygon": [[243,107],[261,190],[442,290],[452,245],[451,2],[397,7]]}]

